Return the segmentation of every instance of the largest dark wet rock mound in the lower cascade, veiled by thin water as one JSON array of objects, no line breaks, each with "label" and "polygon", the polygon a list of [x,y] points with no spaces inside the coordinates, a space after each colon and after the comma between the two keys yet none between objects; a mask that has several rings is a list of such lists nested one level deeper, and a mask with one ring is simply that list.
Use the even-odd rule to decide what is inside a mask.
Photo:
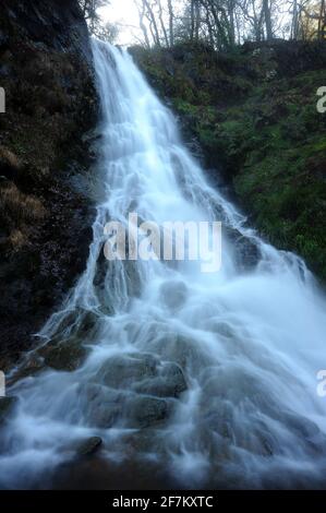
[{"label": "largest dark wet rock mound in the lower cascade, veiled by thin water", "polygon": [[141,429],[166,421],[186,390],[181,368],[159,365],[152,355],[110,358],[96,381],[81,386],[79,404],[87,425],[104,429],[117,423]]}]

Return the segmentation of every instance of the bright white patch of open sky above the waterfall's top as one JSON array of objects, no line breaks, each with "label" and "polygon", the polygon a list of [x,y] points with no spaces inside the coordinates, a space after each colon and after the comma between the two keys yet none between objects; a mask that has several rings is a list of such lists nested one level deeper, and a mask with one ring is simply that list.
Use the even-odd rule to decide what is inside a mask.
[{"label": "bright white patch of open sky above the waterfall's top", "polygon": [[141,37],[138,12],[134,0],[110,0],[110,4],[99,9],[98,14],[104,22],[121,24],[118,45],[133,45],[137,41],[137,37]]}]

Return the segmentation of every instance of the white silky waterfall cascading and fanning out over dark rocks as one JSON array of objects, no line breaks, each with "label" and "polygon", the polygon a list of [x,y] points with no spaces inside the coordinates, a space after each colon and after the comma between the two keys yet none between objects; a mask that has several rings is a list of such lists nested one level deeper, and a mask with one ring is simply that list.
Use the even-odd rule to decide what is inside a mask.
[{"label": "white silky waterfall cascading and fanning out over dark rocks", "polygon": [[[2,431],[0,486],[41,486],[99,436],[96,457],[141,462],[176,487],[323,487],[325,298],[299,258],[264,243],[208,184],[129,53],[93,50],[102,106],[94,240],[41,347],[12,373],[27,377],[10,390],[19,401]],[[130,212],[221,220],[221,271],[107,262],[104,226],[126,226]],[[58,345],[87,357],[73,371],[32,373]]]}]

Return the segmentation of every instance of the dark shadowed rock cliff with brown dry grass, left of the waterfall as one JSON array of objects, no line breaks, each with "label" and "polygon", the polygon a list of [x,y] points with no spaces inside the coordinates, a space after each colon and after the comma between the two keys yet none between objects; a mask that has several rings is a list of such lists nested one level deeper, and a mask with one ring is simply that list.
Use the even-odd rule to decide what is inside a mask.
[{"label": "dark shadowed rock cliff with brown dry grass, left of the waterfall", "polygon": [[85,266],[90,201],[74,183],[93,152],[97,100],[77,0],[2,0],[0,86],[0,369]]}]

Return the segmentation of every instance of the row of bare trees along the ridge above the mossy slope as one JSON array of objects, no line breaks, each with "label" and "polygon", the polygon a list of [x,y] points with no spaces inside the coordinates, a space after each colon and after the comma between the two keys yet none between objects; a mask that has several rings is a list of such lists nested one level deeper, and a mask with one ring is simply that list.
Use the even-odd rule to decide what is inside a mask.
[{"label": "row of bare trees along the ridge above the mossy slope", "polygon": [[325,38],[326,0],[135,0],[146,46]]}]

